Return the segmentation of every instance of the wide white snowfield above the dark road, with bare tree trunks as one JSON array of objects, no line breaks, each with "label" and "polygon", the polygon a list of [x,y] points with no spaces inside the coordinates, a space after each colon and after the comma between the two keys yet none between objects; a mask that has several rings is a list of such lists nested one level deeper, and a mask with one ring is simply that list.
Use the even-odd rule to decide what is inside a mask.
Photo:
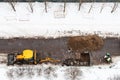
[{"label": "wide white snowfield above the dark road, with bare tree trunks", "polygon": [[65,13],[64,3],[48,2],[47,13],[44,3],[32,5],[33,13],[28,3],[15,3],[14,12],[9,3],[0,3],[0,37],[120,36],[120,3],[113,13],[114,3],[83,3],[80,11],[78,3],[67,3]]}]

